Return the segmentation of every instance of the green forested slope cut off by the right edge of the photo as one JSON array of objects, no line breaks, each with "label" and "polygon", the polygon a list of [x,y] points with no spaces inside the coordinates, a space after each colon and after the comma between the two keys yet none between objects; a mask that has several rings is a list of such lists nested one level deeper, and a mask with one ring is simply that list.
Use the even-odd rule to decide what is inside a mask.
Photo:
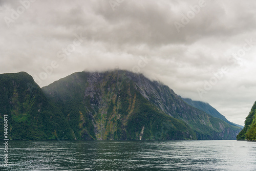
[{"label": "green forested slope cut off by the right edge of the photo", "polygon": [[256,141],[256,101],[245,119],[244,129],[238,134],[237,140]]}]

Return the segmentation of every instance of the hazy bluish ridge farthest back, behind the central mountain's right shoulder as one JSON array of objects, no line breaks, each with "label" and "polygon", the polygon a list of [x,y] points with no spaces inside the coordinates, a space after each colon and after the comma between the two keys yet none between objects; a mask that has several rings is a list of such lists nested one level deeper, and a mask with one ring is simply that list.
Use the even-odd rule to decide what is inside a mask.
[{"label": "hazy bluish ridge farthest back, behind the central mountain's right shoulder", "polygon": [[[179,96],[180,97],[180,96]],[[182,97],[180,97],[182,98]],[[216,117],[216,118],[219,118],[225,122],[227,122],[228,124],[230,125],[233,125],[233,126],[239,126],[243,129],[244,126],[242,125],[239,125],[239,124],[236,124],[236,123],[232,123],[230,121],[228,121],[226,119],[225,116],[223,116],[222,114],[220,114],[215,108],[213,108],[209,103],[205,103],[205,102],[202,102],[202,101],[194,101],[194,100],[191,100],[189,98],[182,98],[182,100],[184,100],[187,104],[201,110],[201,111],[204,111],[205,113],[213,116],[213,117]]]}]

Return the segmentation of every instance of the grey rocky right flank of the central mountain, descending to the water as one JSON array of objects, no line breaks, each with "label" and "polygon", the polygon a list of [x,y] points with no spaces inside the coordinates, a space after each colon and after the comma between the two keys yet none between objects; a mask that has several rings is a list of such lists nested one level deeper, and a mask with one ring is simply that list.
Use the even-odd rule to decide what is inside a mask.
[{"label": "grey rocky right flank of the central mountain, descending to the water", "polygon": [[197,133],[197,139],[234,139],[241,130],[187,105],[173,90],[143,75],[131,74],[139,92],[164,113],[185,121]]}]

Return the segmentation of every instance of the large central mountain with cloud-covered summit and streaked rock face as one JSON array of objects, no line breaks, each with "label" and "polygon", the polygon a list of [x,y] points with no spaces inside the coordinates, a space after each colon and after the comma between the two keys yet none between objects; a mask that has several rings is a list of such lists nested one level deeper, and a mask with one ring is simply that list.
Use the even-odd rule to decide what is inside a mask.
[{"label": "large central mountain with cloud-covered summit and streaked rock face", "polygon": [[127,71],[78,72],[42,88],[77,139],[234,139],[240,129]]}]

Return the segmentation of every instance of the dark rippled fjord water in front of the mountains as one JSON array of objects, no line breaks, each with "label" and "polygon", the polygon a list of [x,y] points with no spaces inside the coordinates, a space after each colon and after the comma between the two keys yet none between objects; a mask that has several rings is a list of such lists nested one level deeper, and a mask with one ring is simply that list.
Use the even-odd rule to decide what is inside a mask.
[{"label": "dark rippled fjord water in front of the mountains", "polygon": [[256,170],[256,142],[235,140],[9,141],[8,156],[0,170]]}]

